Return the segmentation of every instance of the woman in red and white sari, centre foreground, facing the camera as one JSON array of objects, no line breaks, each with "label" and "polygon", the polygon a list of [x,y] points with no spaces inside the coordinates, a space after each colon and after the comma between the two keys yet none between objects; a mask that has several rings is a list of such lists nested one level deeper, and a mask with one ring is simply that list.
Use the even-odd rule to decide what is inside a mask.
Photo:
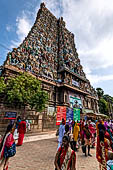
[{"label": "woman in red and white sari, centre foreground, facing the camera", "polygon": [[69,147],[69,137],[64,135],[62,146],[58,149],[55,156],[56,170],[76,170],[76,154]]}]

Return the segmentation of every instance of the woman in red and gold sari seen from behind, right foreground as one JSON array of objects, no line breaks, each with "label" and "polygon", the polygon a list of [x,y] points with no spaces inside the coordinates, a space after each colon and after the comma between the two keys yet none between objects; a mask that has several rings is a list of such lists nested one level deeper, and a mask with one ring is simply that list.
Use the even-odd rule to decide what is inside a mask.
[{"label": "woman in red and gold sari seen from behind, right foreground", "polygon": [[105,138],[105,130],[99,130],[99,136],[97,137],[96,158],[99,162],[100,170],[107,170],[109,147],[110,142],[107,138]]}]

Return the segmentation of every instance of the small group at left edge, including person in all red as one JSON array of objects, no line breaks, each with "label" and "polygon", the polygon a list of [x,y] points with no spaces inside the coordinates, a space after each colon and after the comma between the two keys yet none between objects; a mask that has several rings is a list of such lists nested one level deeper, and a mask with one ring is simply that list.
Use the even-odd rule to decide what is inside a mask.
[{"label": "small group at left edge, including person in all red", "polygon": [[0,170],[8,170],[9,158],[16,154],[16,146],[23,144],[25,132],[26,121],[20,116],[10,121],[0,144]]}]

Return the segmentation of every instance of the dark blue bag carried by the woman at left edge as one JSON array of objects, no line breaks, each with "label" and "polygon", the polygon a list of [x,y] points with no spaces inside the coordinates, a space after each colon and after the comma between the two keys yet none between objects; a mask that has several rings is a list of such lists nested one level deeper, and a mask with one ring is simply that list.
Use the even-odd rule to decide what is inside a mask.
[{"label": "dark blue bag carried by the woman at left edge", "polygon": [[15,154],[16,154],[16,144],[15,144],[15,142],[10,147],[5,146],[5,148],[4,148],[4,157],[5,158],[12,157]]}]

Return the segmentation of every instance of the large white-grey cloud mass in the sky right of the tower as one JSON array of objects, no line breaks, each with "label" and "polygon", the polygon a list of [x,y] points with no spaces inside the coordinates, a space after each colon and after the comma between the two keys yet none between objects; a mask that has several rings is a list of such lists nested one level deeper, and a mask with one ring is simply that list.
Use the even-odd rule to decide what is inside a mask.
[{"label": "large white-grey cloud mass in the sky right of the tower", "polygon": [[109,31],[113,27],[113,1],[63,2],[63,16],[67,27],[75,34],[83,65],[91,70],[113,65],[113,29]]}]

